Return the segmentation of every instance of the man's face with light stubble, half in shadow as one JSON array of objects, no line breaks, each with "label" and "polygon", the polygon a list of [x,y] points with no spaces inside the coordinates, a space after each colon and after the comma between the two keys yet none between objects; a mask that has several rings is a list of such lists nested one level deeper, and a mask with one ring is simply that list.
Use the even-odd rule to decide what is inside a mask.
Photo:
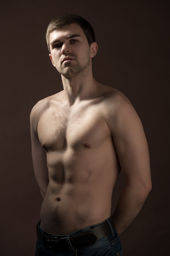
[{"label": "man's face with light stubble, half in shadow", "polygon": [[50,33],[50,59],[58,72],[70,78],[89,70],[92,45],[79,25],[73,23]]}]

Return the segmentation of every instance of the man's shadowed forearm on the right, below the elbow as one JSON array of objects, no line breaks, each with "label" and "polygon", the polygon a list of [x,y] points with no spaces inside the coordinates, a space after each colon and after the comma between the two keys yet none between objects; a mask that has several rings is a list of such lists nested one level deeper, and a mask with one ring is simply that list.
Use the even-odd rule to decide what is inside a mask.
[{"label": "man's shadowed forearm on the right, below the elbow", "polygon": [[146,188],[135,189],[130,185],[126,185],[124,187],[116,210],[113,214],[113,221],[119,235],[125,231],[125,229],[138,215],[149,191],[150,190]]}]

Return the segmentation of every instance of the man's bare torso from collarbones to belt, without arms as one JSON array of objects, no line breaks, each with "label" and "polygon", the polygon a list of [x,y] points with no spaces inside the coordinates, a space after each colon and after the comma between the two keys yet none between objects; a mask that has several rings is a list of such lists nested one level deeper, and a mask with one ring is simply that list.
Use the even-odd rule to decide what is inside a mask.
[{"label": "man's bare torso from collarbones to belt, without arms", "polygon": [[39,118],[49,172],[41,225],[50,233],[69,234],[111,215],[120,170],[105,104],[102,96],[69,107],[52,96]]}]

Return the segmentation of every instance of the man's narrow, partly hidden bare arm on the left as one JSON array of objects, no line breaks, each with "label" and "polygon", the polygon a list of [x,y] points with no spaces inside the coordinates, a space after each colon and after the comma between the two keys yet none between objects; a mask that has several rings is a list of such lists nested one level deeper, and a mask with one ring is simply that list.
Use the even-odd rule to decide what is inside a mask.
[{"label": "man's narrow, partly hidden bare arm on the left", "polygon": [[37,135],[37,124],[39,120],[40,103],[37,103],[31,111],[30,115],[30,126],[31,126],[31,148],[32,148],[32,159],[35,177],[41,191],[41,195],[44,198],[48,187],[48,168],[46,162],[46,150],[42,148],[39,138]]}]

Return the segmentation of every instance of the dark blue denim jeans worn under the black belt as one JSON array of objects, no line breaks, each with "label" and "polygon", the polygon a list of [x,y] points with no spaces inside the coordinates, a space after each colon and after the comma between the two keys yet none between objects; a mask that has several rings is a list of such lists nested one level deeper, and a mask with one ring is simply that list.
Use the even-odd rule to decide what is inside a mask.
[{"label": "dark blue denim jeans worn under the black belt", "polygon": [[[122,256],[123,251],[118,232],[116,231],[116,229],[113,229],[111,223],[109,222],[109,219],[105,220],[104,222],[106,221],[111,228],[111,234],[97,240],[94,245],[78,247],[77,249],[72,250],[70,249],[70,251],[67,252],[52,252],[49,249],[45,248],[43,244],[41,244],[37,239],[35,256]],[[69,234],[67,237],[70,240],[70,236],[75,236],[86,231],[89,228],[97,227],[98,225],[85,227]],[[44,229],[42,229],[41,225],[39,225],[38,229],[42,233],[44,232]]]}]

